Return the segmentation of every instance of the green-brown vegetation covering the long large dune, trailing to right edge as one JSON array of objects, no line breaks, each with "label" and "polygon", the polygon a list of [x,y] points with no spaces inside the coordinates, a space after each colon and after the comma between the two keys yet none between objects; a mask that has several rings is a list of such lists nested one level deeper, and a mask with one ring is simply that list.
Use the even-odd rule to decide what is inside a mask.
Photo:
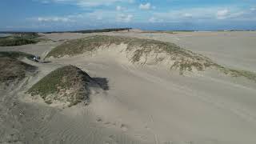
[{"label": "green-brown vegetation covering the long large dune, trailing to right edge", "polygon": [[[82,39],[75,39],[64,42],[62,45],[55,47],[47,54],[46,58],[61,58],[63,56],[74,56],[86,52],[98,50],[99,47],[110,48],[110,45],[126,44],[126,51],[130,53],[130,62],[145,64],[148,55],[154,55],[154,62],[162,62],[166,59],[170,61],[170,69],[178,69],[180,74],[185,71],[206,70],[212,67],[229,74],[233,77],[242,76],[256,82],[256,74],[244,70],[232,70],[206,58],[202,54],[195,54],[190,50],[170,42],[160,42],[151,39],[128,38],[121,36],[96,35]],[[166,54],[161,57],[160,54]]]}]

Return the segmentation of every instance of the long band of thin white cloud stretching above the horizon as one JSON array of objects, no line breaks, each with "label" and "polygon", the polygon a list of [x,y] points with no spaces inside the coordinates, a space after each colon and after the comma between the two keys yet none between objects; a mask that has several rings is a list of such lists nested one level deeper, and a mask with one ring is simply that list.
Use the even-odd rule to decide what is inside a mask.
[{"label": "long band of thin white cloud stretching above the horizon", "polygon": [[[134,18],[136,15],[136,18]],[[124,24],[133,23],[159,23],[159,22],[218,22],[218,21],[255,21],[256,11],[243,10],[237,7],[206,7],[170,10],[167,12],[155,12],[153,10],[143,12],[135,8],[114,7],[114,10],[96,9],[92,12],[70,14],[70,15],[45,15],[29,18],[30,21],[38,23],[53,23],[63,25],[86,25],[83,23],[108,26],[110,23]],[[82,24],[81,24],[82,23]]]}]

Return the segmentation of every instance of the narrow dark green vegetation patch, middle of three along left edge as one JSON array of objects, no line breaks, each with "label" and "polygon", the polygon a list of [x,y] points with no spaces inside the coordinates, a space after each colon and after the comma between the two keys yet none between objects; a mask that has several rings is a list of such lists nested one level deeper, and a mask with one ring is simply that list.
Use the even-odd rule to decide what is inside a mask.
[{"label": "narrow dark green vegetation patch, middle of three along left edge", "polygon": [[33,60],[34,55],[26,54],[20,51],[0,51],[0,58],[28,58]]}]

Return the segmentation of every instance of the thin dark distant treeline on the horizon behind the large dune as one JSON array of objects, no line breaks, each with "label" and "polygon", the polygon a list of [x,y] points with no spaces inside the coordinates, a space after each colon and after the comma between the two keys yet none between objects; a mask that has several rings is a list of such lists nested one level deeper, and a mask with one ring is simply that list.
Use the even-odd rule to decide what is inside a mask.
[{"label": "thin dark distant treeline on the horizon behind the large dune", "polygon": [[130,30],[132,28],[113,28],[113,29],[101,29],[101,30],[75,30],[75,31],[51,31],[46,32],[44,34],[52,34],[52,33],[102,33],[102,32],[111,32],[111,31],[121,31],[121,30]]}]

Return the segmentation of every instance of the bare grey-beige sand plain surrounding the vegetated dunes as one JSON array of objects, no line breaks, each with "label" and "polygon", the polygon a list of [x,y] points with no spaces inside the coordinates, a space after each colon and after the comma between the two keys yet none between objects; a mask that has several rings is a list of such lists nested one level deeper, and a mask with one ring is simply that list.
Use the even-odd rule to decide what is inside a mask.
[{"label": "bare grey-beige sand plain surrounding the vegetated dunes", "polygon": [[[256,72],[256,32],[101,33],[174,42],[214,62]],[[92,34],[43,34],[54,42],[0,47],[42,58],[63,40]],[[34,63],[38,74],[0,91],[0,143],[256,143],[256,82],[216,71],[179,75],[161,66],[127,62],[118,50]],[[60,66],[78,66],[108,79],[89,106],[62,109],[24,92]]]}]

